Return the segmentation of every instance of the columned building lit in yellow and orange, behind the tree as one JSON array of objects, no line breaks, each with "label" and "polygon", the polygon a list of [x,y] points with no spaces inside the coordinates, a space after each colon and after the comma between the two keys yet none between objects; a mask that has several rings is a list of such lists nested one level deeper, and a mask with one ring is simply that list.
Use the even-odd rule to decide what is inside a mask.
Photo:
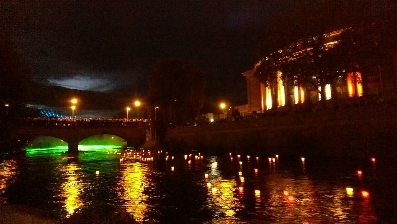
[{"label": "columned building lit in yellow and orange, behind the tree", "polygon": [[[337,44],[337,38],[340,32],[335,31],[330,36],[329,42],[326,44]],[[366,87],[362,86],[360,72],[350,72],[347,74],[347,80],[337,81],[333,84],[326,85],[326,99],[332,99],[333,95],[337,94],[338,99],[347,99],[353,97],[360,97],[364,94],[364,89],[367,91],[366,95],[378,97],[395,95],[397,84],[397,50],[394,49],[394,57],[391,59],[391,68],[376,68],[373,73],[366,79]],[[321,99],[320,93],[312,87],[301,85],[291,85],[282,83],[280,80],[281,72],[277,73],[277,83],[266,87],[260,83],[258,78],[254,76],[255,68],[243,72],[247,82],[247,104],[235,107],[241,115],[246,116],[253,113],[263,113],[266,110],[278,106],[283,109],[284,106],[293,106],[294,104],[302,104],[305,102],[316,103]],[[385,72],[388,71],[388,72]],[[391,71],[391,72],[390,72]],[[272,97],[272,91],[276,99]],[[276,101],[276,102],[274,102]]]}]

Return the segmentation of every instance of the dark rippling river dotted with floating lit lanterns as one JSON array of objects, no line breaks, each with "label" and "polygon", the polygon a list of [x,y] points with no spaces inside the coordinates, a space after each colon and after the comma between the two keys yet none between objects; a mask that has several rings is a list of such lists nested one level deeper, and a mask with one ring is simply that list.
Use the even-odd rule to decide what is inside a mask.
[{"label": "dark rippling river dotted with floating lit lanterns", "polygon": [[78,155],[62,150],[5,155],[0,157],[0,203],[38,209],[60,222],[87,214],[106,218],[114,211],[159,223],[397,218],[397,169],[391,162],[191,154],[185,159],[166,151],[105,146]]}]

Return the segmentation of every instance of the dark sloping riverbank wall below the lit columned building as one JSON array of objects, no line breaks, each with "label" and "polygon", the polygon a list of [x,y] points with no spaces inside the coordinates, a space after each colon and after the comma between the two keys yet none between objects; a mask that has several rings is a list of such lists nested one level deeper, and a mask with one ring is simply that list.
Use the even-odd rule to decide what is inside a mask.
[{"label": "dark sloping riverbank wall below the lit columned building", "polygon": [[169,129],[167,148],[263,155],[397,156],[397,105],[382,104]]}]

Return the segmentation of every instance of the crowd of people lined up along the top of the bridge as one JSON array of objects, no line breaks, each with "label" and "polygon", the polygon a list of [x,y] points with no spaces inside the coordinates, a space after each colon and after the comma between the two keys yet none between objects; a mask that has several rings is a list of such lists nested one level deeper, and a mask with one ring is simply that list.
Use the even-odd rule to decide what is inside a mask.
[{"label": "crowd of people lined up along the top of the bridge", "polygon": [[108,119],[108,118],[25,118],[23,122],[30,126],[55,126],[55,127],[122,127],[148,125],[147,119]]}]

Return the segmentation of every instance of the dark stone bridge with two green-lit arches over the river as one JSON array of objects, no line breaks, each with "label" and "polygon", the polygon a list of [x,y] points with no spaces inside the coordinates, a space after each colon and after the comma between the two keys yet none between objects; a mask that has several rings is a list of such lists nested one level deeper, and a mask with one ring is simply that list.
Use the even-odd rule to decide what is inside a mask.
[{"label": "dark stone bridge with two green-lit arches over the river", "polygon": [[37,136],[50,136],[67,142],[68,152],[78,152],[79,142],[93,135],[115,135],[127,141],[127,147],[141,147],[146,141],[144,125],[136,126],[29,126],[20,125],[12,129],[13,138],[31,139]]}]

